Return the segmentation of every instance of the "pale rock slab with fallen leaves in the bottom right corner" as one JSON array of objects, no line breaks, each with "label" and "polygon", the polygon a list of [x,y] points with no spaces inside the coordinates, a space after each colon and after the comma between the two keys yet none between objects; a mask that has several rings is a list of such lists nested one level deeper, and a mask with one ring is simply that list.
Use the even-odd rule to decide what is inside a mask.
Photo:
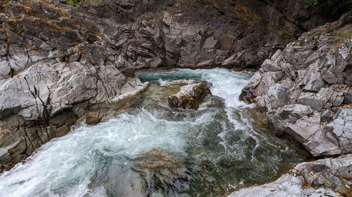
[{"label": "pale rock slab with fallen leaves in the bottom right corner", "polygon": [[228,197],[345,196],[352,192],[351,169],[352,155],[300,163],[272,183],[240,189]]}]

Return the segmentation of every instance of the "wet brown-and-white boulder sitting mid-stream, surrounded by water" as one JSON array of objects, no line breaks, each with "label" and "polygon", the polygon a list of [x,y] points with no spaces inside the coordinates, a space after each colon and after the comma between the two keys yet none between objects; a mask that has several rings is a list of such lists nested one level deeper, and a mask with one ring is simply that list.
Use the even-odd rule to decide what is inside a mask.
[{"label": "wet brown-and-white boulder sitting mid-stream, surrounded by water", "polygon": [[[172,84],[187,83],[182,86],[177,94],[173,94],[164,98],[172,108],[198,109],[199,104],[204,100],[205,96],[212,95],[210,92],[211,83],[197,80],[178,80]],[[169,84],[171,85],[171,84]]]}]

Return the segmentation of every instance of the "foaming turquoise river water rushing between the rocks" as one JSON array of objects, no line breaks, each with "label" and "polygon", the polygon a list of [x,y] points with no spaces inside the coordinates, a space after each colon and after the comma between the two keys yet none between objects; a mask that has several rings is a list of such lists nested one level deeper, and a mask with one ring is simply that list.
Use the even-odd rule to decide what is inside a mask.
[{"label": "foaming turquoise river water rushing between the rocks", "polygon": [[[227,69],[137,72],[150,89],[107,122],[82,125],[0,176],[0,196],[221,196],[269,181],[305,160],[239,101],[252,73]],[[213,83],[198,110],[174,111],[158,98],[178,79]]]}]

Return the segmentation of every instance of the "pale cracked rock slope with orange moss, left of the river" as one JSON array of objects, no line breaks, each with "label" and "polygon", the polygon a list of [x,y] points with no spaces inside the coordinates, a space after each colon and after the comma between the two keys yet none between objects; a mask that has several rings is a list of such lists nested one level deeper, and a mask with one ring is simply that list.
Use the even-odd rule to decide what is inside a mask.
[{"label": "pale cracked rock slope with orange moss, left of the river", "polygon": [[114,41],[70,6],[6,1],[0,13],[1,169],[79,118],[98,123],[147,86]]}]

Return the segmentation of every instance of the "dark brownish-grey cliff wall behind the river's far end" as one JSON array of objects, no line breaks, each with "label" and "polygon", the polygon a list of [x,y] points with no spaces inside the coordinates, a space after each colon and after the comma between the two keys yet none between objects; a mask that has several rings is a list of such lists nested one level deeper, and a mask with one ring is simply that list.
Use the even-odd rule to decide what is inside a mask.
[{"label": "dark brownish-grey cliff wall behind the river's far end", "polygon": [[136,68],[256,67],[333,21],[299,1],[84,1],[77,8]]}]

